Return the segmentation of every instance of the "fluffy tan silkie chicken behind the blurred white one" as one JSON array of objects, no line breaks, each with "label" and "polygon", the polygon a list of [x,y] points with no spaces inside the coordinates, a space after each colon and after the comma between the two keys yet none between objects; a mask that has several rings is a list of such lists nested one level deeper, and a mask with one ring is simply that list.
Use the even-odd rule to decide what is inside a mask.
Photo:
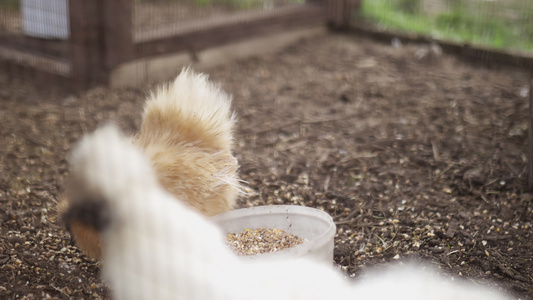
[{"label": "fluffy tan silkie chicken behind the blurred white one", "polygon": [[[231,210],[241,190],[232,155],[234,123],[231,97],[206,75],[183,69],[173,83],[151,94],[132,140],[168,192],[212,216]],[[58,204],[63,219],[72,206],[70,198],[64,196]],[[100,258],[98,233],[78,220],[66,223],[76,245]]]}]

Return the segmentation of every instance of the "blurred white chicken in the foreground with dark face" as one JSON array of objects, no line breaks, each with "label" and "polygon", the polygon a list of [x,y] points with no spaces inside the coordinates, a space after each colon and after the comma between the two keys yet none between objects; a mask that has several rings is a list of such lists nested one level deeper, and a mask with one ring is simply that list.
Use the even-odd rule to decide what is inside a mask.
[{"label": "blurred white chicken in the foreground with dark face", "polygon": [[313,261],[243,260],[215,224],[160,186],[149,160],[113,127],[84,138],[72,167],[69,219],[101,230],[116,300],[507,299],[420,266],[354,284]]}]

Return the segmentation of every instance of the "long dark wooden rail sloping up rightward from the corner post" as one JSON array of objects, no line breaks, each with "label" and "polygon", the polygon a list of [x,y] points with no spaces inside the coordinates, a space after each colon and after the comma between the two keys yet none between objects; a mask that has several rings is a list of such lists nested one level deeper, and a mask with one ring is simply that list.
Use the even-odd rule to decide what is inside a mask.
[{"label": "long dark wooden rail sloping up rightward from the corner post", "polygon": [[188,23],[185,28],[137,37],[135,57],[198,51],[261,34],[282,32],[299,26],[318,25],[325,23],[326,17],[323,5],[305,4],[269,12],[250,13],[235,18],[226,17],[223,20],[217,18],[200,20],[201,24]]}]

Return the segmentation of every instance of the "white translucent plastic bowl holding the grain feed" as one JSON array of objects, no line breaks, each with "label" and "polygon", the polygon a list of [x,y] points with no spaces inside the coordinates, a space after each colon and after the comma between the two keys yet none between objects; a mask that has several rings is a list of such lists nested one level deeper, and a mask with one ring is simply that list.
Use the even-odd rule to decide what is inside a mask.
[{"label": "white translucent plastic bowl holding the grain feed", "polygon": [[216,215],[213,221],[226,233],[245,229],[275,228],[296,235],[306,241],[284,250],[246,255],[250,259],[311,258],[333,262],[335,223],[327,213],[311,207],[295,205],[258,206],[233,210]]}]

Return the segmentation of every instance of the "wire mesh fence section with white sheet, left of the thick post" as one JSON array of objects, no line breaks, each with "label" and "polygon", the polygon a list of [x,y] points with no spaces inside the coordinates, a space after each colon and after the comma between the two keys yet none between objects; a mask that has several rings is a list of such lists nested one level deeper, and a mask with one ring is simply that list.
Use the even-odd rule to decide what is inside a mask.
[{"label": "wire mesh fence section with white sheet, left of the thick post", "polygon": [[67,0],[0,2],[0,62],[9,78],[38,79],[32,70],[68,76],[68,38]]}]

